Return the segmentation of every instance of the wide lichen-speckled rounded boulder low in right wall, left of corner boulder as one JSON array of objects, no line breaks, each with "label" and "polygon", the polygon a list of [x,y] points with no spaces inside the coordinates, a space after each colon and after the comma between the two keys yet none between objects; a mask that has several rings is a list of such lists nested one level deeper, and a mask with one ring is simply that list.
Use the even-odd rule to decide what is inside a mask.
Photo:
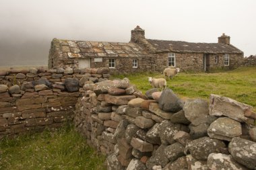
[{"label": "wide lichen-speckled rounded boulder low in right wall, left of corner boulder", "polygon": [[210,153],[226,153],[226,144],[222,140],[212,139],[209,137],[192,140],[186,146],[189,153],[195,159],[206,160]]}]

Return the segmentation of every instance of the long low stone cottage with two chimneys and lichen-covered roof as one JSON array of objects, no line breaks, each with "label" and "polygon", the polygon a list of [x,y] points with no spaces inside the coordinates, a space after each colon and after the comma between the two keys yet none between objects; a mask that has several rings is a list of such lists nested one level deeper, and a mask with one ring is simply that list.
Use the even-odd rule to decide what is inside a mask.
[{"label": "long low stone cottage with two chimneys and lichen-covered roof", "polygon": [[145,38],[145,30],[131,30],[131,41],[92,42],[54,38],[49,53],[49,68],[109,67],[112,71],[131,73],[159,71],[179,67],[183,71],[234,69],[241,65],[243,51],[230,44],[222,34],[218,43],[194,43]]}]

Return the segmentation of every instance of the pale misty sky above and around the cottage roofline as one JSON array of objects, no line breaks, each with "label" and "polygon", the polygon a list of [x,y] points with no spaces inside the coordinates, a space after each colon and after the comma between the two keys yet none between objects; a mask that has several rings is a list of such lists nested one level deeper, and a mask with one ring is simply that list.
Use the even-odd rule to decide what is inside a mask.
[{"label": "pale misty sky above and around the cottage roofline", "polygon": [[47,65],[51,40],[218,42],[256,54],[255,0],[0,0],[0,66]]}]

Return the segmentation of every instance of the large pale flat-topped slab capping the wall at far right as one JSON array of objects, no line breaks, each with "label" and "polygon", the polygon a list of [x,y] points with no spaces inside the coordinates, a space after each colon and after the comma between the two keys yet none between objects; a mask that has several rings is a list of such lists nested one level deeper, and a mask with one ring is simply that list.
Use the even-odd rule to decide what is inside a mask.
[{"label": "large pale flat-topped slab capping the wall at far right", "polygon": [[246,105],[220,95],[210,95],[210,115],[227,116],[239,122],[246,122],[249,118],[245,117],[247,110],[252,110],[251,105]]}]

